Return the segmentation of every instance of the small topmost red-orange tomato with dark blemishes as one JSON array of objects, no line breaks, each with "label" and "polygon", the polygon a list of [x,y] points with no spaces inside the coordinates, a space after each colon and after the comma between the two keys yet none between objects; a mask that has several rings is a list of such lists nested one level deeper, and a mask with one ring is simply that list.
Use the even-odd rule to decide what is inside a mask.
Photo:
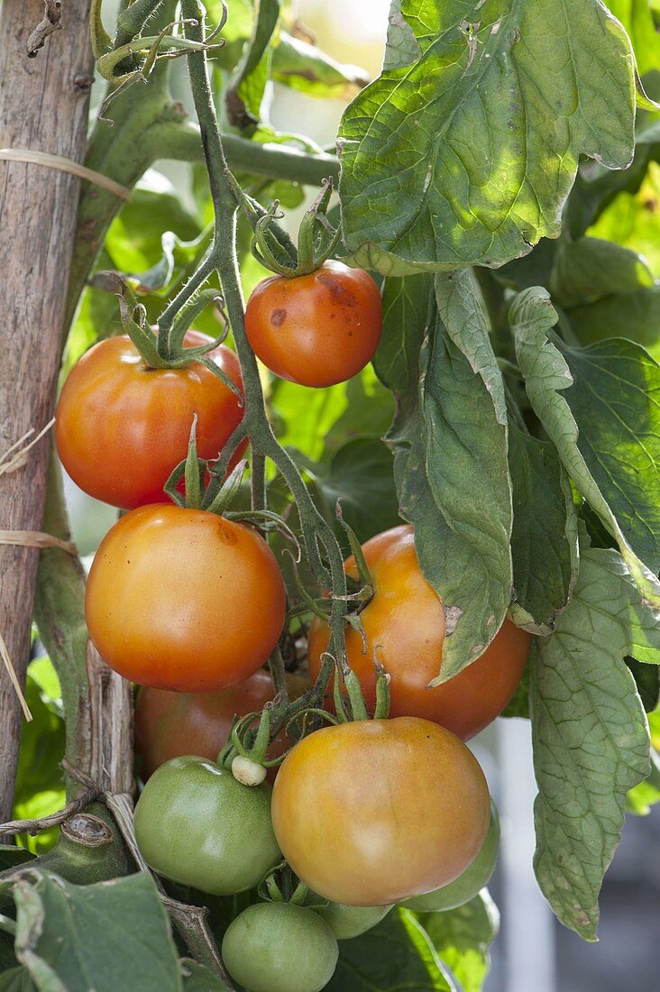
[{"label": "small topmost red-orange tomato with dark blemishes", "polygon": [[309,276],[265,279],[245,310],[255,355],[302,386],[334,386],[356,375],[373,358],[382,322],[371,276],[331,261]]}]

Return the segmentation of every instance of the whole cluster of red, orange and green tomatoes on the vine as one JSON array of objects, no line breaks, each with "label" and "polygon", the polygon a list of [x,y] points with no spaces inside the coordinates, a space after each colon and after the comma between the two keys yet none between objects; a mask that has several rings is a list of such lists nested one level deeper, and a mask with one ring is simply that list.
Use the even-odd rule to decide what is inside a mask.
[{"label": "whole cluster of red, orange and green tomatoes on the vine", "polygon": [[[358,372],[380,329],[375,283],[337,262],[265,280],[246,312],[257,356],[313,387]],[[188,347],[203,342],[189,331]],[[347,625],[345,640],[374,717],[341,711],[335,719],[330,682],[330,726],[319,729],[304,718],[319,698],[308,702],[310,683],[289,676],[289,698],[302,696],[299,718],[285,716],[271,730],[280,703],[262,666],[287,609],[277,561],[254,527],[210,512],[212,500],[175,505],[164,492],[189,450],[194,417],[198,453],[212,462],[240,424],[241,392],[238,361],[222,346],[202,363],[150,368],[129,338],[102,341],[66,382],[58,447],[83,489],[130,511],[94,558],[85,617],[105,662],[142,686],[140,851],[164,878],[211,896],[258,888],[262,901],[222,941],[226,967],[244,988],[320,992],[337,940],[376,926],[397,904],[420,912],[460,906],[488,881],[497,815],[463,741],[512,696],[530,638],[505,620],[480,659],[428,689],[442,670],[445,608],[420,569],[413,529],[394,528],[364,545],[359,575],[354,558],[344,564],[352,578],[368,571],[361,630]],[[197,491],[188,469],[186,479]],[[308,638],[315,681],[329,643],[328,622],[316,617]],[[383,684],[374,660],[390,681],[389,718],[374,712]],[[293,895],[285,887],[287,899],[274,881],[280,871],[289,884],[299,880]]]}]

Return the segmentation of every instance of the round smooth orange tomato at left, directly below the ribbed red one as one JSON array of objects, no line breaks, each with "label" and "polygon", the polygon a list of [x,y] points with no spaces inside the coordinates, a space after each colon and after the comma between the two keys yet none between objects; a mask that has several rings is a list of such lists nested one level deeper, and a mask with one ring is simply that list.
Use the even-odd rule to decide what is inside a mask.
[{"label": "round smooth orange tomato at left, directly below the ribbed red one", "polygon": [[210,692],[261,668],[282,631],[286,593],[256,531],[159,504],[132,510],[106,534],[84,611],[101,658],[125,679]]}]

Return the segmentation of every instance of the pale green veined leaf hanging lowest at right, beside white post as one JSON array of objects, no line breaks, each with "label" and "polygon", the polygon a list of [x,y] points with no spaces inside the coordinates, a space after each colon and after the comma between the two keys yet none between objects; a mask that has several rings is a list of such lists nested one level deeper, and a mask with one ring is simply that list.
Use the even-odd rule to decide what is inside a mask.
[{"label": "pale green veined leaf hanging lowest at right, beside white post", "polygon": [[597,897],[628,790],[649,771],[646,717],[623,658],[658,662],[658,617],[616,552],[584,549],[571,605],[532,655],[534,858],[567,927],[595,939]]}]

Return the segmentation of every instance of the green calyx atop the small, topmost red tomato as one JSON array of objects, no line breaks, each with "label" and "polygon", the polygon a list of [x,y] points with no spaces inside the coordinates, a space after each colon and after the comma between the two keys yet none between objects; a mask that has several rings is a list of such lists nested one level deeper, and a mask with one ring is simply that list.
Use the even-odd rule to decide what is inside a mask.
[{"label": "green calyx atop the small, topmost red tomato", "polygon": [[284,214],[275,200],[270,213],[254,218],[252,254],[266,269],[286,279],[296,279],[316,272],[334,254],[339,243],[339,228],[332,227],[327,210],[332,194],[332,181],[324,180],[321,191],[301,221],[298,249],[292,251],[273,229],[274,222]]}]

